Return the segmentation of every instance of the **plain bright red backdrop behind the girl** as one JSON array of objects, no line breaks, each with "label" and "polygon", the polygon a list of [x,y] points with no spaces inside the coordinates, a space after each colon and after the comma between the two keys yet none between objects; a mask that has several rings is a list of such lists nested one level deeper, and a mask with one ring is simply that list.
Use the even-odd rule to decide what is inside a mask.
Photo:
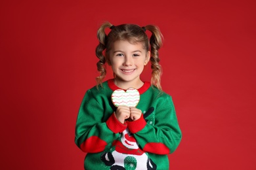
[{"label": "plain bright red backdrop behind the girl", "polygon": [[[156,24],[183,138],[171,169],[256,169],[255,1],[1,1],[0,169],[83,169],[77,111],[104,20]],[[150,80],[146,69],[142,76]],[[108,78],[111,73],[108,74]]]}]

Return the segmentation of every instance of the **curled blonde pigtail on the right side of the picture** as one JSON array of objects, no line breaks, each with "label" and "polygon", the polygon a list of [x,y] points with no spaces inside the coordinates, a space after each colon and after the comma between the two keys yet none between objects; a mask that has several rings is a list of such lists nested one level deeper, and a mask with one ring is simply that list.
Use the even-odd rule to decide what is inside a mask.
[{"label": "curled blonde pigtail on the right side of the picture", "polygon": [[150,46],[151,46],[151,69],[152,69],[152,77],[151,77],[151,84],[156,86],[158,89],[161,90],[161,65],[160,65],[160,58],[158,54],[158,50],[162,46],[162,39],[163,35],[161,35],[160,29],[156,25],[146,25],[144,27],[146,30],[152,33],[150,37]]}]

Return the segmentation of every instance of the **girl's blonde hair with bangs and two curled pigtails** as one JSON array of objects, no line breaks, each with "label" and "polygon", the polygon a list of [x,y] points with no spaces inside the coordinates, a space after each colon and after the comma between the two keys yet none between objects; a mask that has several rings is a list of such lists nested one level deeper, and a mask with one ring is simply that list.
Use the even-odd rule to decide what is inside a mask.
[{"label": "girl's blonde hair with bangs and two curled pigtails", "polygon": [[[111,31],[106,35],[105,29],[110,28]],[[146,35],[145,31],[148,30],[152,33],[150,39]],[[115,41],[125,40],[132,44],[142,43],[143,48],[146,51],[151,52],[150,62],[152,69],[151,84],[161,90],[161,65],[160,58],[158,56],[158,50],[162,46],[163,35],[161,35],[160,29],[156,25],[146,25],[140,27],[135,24],[121,24],[114,26],[110,22],[104,22],[97,32],[99,44],[96,46],[96,56],[99,61],[96,63],[99,76],[96,77],[97,86],[102,85],[102,81],[106,76],[106,63],[110,65],[109,52],[112,44]]]}]

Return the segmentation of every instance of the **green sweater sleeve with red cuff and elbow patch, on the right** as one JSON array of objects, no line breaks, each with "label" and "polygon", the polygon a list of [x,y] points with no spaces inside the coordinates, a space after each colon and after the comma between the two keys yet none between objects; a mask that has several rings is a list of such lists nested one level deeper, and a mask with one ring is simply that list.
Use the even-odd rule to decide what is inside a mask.
[{"label": "green sweater sleeve with red cuff and elbow patch, on the right", "polygon": [[[181,129],[170,95],[160,99],[155,108],[155,124],[128,124],[142,150],[154,154],[170,154],[181,142]],[[143,122],[141,119],[138,122]],[[130,127],[131,126],[131,127]],[[137,130],[136,130],[137,129]]]}]

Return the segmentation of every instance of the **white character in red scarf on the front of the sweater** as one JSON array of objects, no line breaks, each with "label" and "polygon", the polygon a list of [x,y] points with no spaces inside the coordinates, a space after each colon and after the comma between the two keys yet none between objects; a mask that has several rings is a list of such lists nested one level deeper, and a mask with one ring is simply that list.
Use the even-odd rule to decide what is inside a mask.
[{"label": "white character in red scarf on the front of the sweater", "polygon": [[156,169],[156,164],[141,150],[129,129],[121,133],[121,139],[112,143],[109,152],[100,158],[110,169]]}]

